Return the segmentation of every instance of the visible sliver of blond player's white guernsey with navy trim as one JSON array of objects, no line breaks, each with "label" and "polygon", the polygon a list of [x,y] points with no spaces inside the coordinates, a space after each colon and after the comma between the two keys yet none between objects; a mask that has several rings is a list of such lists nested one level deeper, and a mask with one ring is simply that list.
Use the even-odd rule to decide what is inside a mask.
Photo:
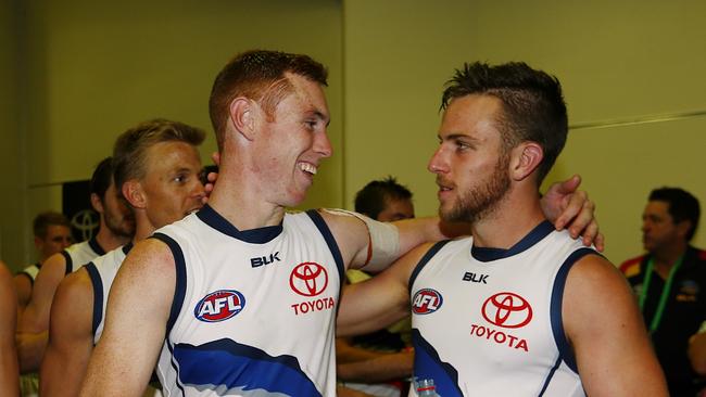
[{"label": "visible sliver of blond player's white guernsey with navy trim", "polygon": [[99,256],[86,265],[86,270],[93,285],[93,345],[98,343],[103,333],[105,323],[105,307],[108,294],[117,274],[117,269],[123,265],[125,256],[133,248],[133,243],[117,247],[110,253]]}]

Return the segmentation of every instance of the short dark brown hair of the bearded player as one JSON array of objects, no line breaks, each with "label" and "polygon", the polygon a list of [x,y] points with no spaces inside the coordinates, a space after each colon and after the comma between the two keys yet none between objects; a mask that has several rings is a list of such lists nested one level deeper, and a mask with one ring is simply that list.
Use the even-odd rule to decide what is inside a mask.
[{"label": "short dark brown hair of the bearded player", "polygon": [[538,174],[538,184],[541,183],[564,149],[568,132],[559,80],[522,62],[496,66],[466,63],[446,81],[441,108],[445,110],[456,98],[470,94],[491,95],[502,102],[503,112],[497,121],[506,151],[524,141],[542,146],[544,158]]}]

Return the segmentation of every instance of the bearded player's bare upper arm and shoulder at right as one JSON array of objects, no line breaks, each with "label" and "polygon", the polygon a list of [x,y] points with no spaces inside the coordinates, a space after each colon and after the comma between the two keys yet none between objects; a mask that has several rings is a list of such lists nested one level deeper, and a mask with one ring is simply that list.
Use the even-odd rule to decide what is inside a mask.
[{"label": "bearded player's bare upper arm and shoulder at right", "polygon": [[627,282],[602,257],[569,271],[564,328],[589,396],[667,396],[665,377]]}]

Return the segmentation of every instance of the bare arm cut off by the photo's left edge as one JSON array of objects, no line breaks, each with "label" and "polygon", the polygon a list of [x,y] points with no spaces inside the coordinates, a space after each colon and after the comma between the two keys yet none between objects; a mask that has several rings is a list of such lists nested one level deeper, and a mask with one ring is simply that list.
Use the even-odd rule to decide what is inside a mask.
[{"label": "bare arm cut off by the photo's left edge", "polygon": [[18,396],[20,374],[15,349],[17,296],[12,286],[12,274],[0,261],[0,395]]}]

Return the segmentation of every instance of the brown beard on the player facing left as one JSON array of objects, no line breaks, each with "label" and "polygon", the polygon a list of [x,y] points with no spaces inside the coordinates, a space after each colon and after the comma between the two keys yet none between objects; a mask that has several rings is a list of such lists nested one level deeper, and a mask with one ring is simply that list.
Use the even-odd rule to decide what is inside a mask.
[{"label": "brown beard on the player facing left", "polygon": [[497,159],[493,174],[470,188],[449,210],[439,208],[439,216],[447,222],[471,222],[487,218],[499,207],[505,193],[509,190],[510,180],[507,174],[509,156],[503,155]]}]

